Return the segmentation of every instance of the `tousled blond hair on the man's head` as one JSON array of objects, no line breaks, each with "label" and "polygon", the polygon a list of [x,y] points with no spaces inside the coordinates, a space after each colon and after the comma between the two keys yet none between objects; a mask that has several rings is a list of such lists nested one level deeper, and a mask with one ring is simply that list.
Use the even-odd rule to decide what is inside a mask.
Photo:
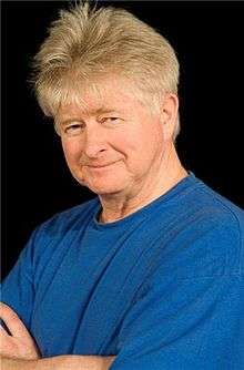
[{"label": "tousled blond hair on the man's head", "polygon": [[[88,1],[61,10],[33,60],[32,83],[44,114],[78,97],[84,84],[120,73],[155,102],[177,93],[179,62],[160,33],[124,9],[95,9]],[[180,131],[175,127],[174,138]]]}]

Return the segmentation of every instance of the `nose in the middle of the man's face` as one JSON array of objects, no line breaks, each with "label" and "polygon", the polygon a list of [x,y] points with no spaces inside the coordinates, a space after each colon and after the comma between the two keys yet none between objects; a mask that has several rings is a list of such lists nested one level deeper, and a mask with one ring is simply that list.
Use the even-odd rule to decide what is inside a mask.
[{"label": "nose in the middle of the man's face", "polygon": [[95,125],[85,129],[83,153],[89,158],[96,158],[106,151],[106,141],[102,130]]}]

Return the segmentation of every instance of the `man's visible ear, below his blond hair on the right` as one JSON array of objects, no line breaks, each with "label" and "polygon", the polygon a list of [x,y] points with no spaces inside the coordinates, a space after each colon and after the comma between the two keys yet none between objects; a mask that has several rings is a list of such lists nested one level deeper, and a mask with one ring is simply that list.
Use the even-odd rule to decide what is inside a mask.
[{"label": "man's visible ear, below his blond hair on the right", "polygon": [[172,140],[177,122],[179,99],[176,94],[165,94],[161,106],[161,121],[165,140]]}]

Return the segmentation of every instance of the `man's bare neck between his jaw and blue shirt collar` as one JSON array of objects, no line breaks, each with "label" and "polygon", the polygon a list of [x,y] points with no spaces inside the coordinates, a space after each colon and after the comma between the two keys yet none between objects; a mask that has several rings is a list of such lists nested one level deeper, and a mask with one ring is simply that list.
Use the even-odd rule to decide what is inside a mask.
[{"label": "man's bare neck between his jaw and blue shirt collar", "polygon": [[136,189],[130,195],[112,194],[100,196],[102,204],[100,222],[112,223],[133,214],[169,192],[187,176],[187,172],[183,168],[173,145],[164,155],[160,171],[156,174],[156,176],[151,176],[148,182],[143,182],[142,185],[139,184]]}]

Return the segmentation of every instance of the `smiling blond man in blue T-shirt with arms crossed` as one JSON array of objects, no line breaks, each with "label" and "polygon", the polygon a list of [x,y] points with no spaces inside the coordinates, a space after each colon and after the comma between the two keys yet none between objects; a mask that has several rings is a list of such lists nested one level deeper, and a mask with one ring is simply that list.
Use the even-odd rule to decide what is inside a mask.
[{"label": "smiling blond man in blue T-shirt with arms crossed", "polygon": [[242,369],[244,215],[181,164],[179,63],[124,10],[60,14],[41,107],[98,196],[38,227],[2,287],[3,369]]}]

